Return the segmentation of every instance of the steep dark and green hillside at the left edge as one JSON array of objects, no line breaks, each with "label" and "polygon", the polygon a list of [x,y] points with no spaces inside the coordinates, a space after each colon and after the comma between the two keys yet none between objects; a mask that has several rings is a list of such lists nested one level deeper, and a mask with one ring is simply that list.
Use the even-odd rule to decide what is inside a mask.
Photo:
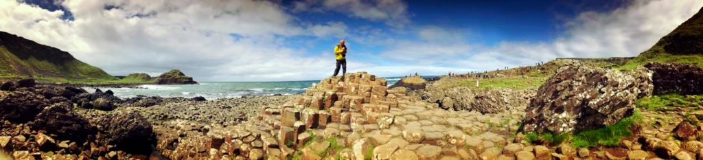
[{"label": "steep dark and green hillside at the left edge", "polygon": [[0,78],[33,77],[44,81],[112,80],[114,76],[75,59],[58,48],[0,32]]}]

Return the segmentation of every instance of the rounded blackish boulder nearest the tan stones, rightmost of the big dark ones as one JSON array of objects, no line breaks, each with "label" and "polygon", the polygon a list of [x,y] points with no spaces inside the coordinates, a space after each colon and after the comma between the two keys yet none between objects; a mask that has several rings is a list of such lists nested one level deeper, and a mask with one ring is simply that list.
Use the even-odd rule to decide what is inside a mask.
[{"label": "rounded blackish boulder nearest the tan stones, rightmost of the big dark ones", "polygon": [[156,135],[149,122],[136,112],[103,116],[99,122],[105,138],[131,154],[150,154]]}]

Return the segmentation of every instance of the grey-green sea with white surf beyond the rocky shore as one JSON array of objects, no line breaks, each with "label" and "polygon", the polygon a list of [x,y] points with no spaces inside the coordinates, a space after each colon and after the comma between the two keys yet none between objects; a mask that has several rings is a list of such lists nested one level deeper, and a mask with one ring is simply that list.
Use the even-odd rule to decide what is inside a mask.
[{"label": "grey-green sea with white surf beyond the rocky shore", "polygon": [[[391,86],[402,77],[384,77]],[[133,98],[137,95],[160,96],[162,98],[193,98],[202,96],[207,100],[218,98],[242,98],[259,95],[294,95],[305,90],[316,81],[260,81],[260,82],[199,82],[196,85],[138,85],[136,88],[100,87],[101,91],[111,90],[119,98]],[[93,92],[95,88],[85,88]]]}]

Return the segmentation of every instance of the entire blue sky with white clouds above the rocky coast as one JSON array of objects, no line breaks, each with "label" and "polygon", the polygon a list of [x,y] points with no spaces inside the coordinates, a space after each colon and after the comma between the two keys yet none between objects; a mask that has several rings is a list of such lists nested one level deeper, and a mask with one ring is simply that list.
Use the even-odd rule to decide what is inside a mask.
[{"label": "entire blue sky with white clouds above the rocky coast", "polygon": [[482,72],[555,58],[636,56],[700,0],[0,0],[0,31],[112,75],[181,69],[196,81],[298,81]]}]

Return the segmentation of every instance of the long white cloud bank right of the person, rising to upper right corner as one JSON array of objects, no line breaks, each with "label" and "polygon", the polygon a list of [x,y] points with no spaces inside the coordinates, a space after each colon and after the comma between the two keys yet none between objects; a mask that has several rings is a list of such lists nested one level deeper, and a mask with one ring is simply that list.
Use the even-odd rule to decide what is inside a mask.
[{"label": "long white cloud bank right of the person, rising to upper right corner", "polygon": [[406,65],[425,62],[445,65],[444,69],[479,71],[534,65],[555,58],[631,57],[653,46],[702,6],[703,1],[697,0],[633,1],[605,13],[583,12],[569,20],[566,32],[553,41],[503,41],[496,46],[442,41],[445,39],[441,37],[452,34],[431,27],[417,31],[423,40],[400,41],[381,55],[404,60]]}]

